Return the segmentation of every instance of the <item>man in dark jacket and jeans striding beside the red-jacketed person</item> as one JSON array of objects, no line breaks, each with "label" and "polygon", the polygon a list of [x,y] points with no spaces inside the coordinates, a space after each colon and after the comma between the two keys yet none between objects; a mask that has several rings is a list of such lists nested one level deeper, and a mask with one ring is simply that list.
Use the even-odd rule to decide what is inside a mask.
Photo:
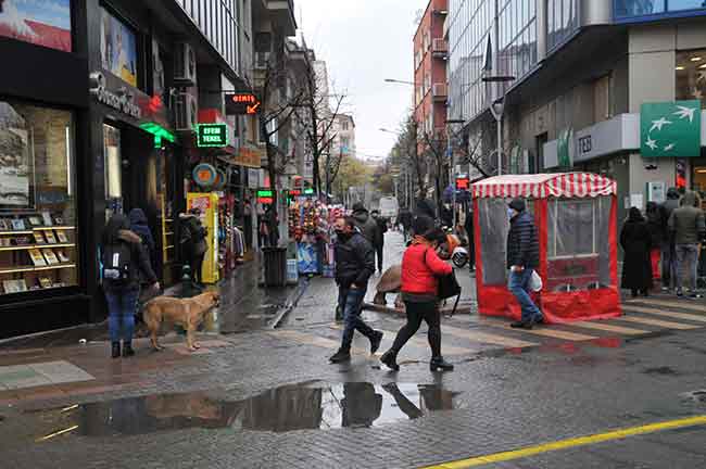
[{"label": "man in dark jacket and jeans striding beside the red-jacketed person", "polygon": [[341,347],[330,358],[331,363],[351,359],[351,343],[357,330],[370,341],[370,354],[380,347],[382,332],[374,330],[361,318],[362,304],[368,287],[368,279],[375,272],[373,245],[355,228],[352,217],[339,217],[336,229],[336,283],[338,284],[338,307],[343,312],[343,337]]}]

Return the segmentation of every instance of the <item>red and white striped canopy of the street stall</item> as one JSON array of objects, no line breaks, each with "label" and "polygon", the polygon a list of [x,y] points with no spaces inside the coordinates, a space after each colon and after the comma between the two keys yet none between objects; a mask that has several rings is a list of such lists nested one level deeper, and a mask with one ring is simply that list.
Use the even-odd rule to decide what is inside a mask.
[{"label": "red and white striped canopy of the street stall", "polygon": [[613,179],[591,173],[496,176],[471,186],[474,198],[596,198],[615,195],[618,185]]}]

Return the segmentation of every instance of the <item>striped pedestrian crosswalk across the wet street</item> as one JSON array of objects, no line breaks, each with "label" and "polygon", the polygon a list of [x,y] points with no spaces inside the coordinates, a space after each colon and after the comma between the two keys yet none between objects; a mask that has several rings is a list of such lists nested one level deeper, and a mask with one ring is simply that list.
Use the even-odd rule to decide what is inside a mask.
[{"label": "striped pedestrian crosswalk across the wet street", "polygon": [[[571,322],[567,325],[540,326],[532,330],[512,329],[504,318],[457,315],[442,320],[442,353],[454,357],[472,356],[488,351],[522,350],[562,343],[582,343],[588,346],[615,346],[616,340],[632,339],[664,331],[689,331],[706,328],[706,303],[671,297],[650,297],[627,301],[619,318]],[[384,333],[380,352],[392,341],[404,318],[375,315],[370,326]],[[367,319],[366,319],[367,320]],[[292,345],[307,345],[336,351],[340,346],[342,324],[330,322],[302,329],[285,329],[268,332],[274,338]],[[612,341],[607,341],[613,339]],[[369,343],[356,334],[352,353],[356,358],[369,356]],[[407,343],[400,360],[428,360],[427,328]]]}]

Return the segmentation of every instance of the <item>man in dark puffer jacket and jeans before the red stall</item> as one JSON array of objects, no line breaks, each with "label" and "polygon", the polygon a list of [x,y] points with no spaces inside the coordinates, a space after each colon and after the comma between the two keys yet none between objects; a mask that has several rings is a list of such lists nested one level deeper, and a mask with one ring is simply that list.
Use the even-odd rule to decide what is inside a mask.
[{"label": "man in dark puffer jacket and jeans before the red stall", "polygon": [[507,288],[522,308],[522,318],[513,322],[514,328],[532,329],[544,317],[529,295],[529,284],[534,269],[540,264],[540,244],[532,216],[527,212],[525,201],[515,199],[509,203],[510,227],[507,233]]}]

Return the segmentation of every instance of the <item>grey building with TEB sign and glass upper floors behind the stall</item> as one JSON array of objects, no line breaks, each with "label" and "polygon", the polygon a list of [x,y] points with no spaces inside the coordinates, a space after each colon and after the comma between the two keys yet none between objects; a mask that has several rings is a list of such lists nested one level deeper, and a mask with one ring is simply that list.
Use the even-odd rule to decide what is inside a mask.
[{"label": "grey building with TEB sign and glass upper floors behind the stall", "polygon": [[[704,191],[704,30],[701,0],[450,0],[449,117],[466,123],[464,144],[479,141],[492,173],[490,106],[502,101],[504,173],[610,176],[619,217],[669,187]],[[695,115],[694,141],[663,142],[652,128],[659,109],[670,114],[665,129]]]}]

